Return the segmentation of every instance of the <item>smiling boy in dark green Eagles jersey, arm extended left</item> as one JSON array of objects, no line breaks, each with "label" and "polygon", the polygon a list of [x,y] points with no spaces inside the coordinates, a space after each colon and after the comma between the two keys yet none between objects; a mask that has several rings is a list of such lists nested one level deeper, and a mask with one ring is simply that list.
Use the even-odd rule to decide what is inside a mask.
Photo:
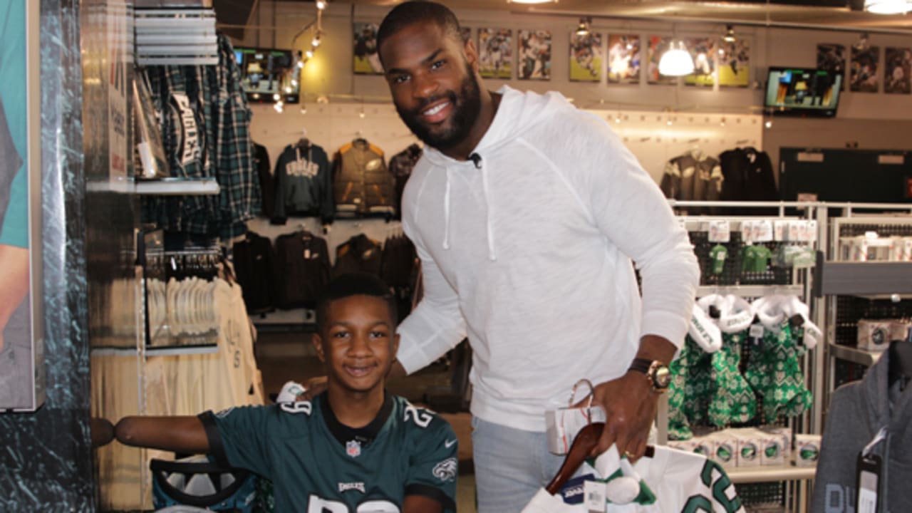
[{"label": "smiling boy in dark green Eagles jersey, arm extended left", "polygon": [[276,511],[453,511],[458,444],[450,424],[384,390],[399,346],[396,319],[379,278],[337,277],[316,311],[325,393],[196,417],[126,417],[117,438],[209,453],[223,466],[267,477]]}]

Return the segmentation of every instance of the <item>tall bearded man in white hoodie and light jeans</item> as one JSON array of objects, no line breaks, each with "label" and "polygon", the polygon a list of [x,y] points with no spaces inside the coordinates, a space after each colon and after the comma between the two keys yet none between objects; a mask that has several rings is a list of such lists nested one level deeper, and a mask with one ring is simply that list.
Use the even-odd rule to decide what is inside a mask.
[{"label": "tall bearded man in white hoodie and light jeans", "polygon": [[[699,267],[665,198],[604,120],[558,93],[482,87],[445,6],[408,2],[378,31],[399,116],[427,149],[403,196],[424,298],[390,375],[468,336],[479,511],[519,511],[562,463],[544,412],[598,383],[596,448],[643,455],[655,371],[687,332]],[[642,299],[632,261],[642,276]]]}]

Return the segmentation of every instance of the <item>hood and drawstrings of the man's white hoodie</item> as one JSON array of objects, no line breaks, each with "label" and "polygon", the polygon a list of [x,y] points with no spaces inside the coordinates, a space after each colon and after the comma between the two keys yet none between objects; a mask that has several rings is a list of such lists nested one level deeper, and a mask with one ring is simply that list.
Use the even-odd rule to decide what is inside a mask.
[{"label": "hood and drawstrings of the man's white hoodie", "polygon": [[444,155],[436,148],[427,147],[425,156],[435,168],[442,168],[446,173],[447,181],[443,195],[443,249],[450,249],[450,221],[451,221],[451,173],[472,173],[472,169],[482,173],[482,194],[487,205],[486,233],[488,239],[488,258],[497,260],[496,240],[493,232],[492,219],[496,212],[496,194],[492,193],[488,173],[490,170],[485,165],[485,158],[503,146],[522,137],[523,130],[534,126],[535,123],[546,120],[552,110],[565,107],[569,102],[557,92],[544,95],[532,92],[520,92],[509,86],[497,90],[503,95],[491,126],[484,132],[482,140],[472,150],[468,161],[457,161]]}]

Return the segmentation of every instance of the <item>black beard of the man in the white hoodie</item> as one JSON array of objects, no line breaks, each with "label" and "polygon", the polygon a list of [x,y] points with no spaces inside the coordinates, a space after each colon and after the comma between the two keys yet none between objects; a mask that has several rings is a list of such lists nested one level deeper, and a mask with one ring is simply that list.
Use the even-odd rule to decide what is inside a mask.
[{"label": "black beard of the man in the white hoodie", "polygon": [[[440,99],[447,99],[452,106],[451,117],[444,122],[449,126],[445,128],[443,124],[431,127],[421,119],[421,112]],[[410,111],[403,110],[399,105],[396,106],[399,118],[409,127],[409,130],[425,144],[438,150],[448,150],[464,141],[472,131],[472,126],[478,119],[481,110],[482,89],[478,84],[478,78],[475,77],[474,70],[468,64],[466,65],[466,77],[462,79],[458,96],[453,91],[446,91],[425,99],[417,109]]]}]

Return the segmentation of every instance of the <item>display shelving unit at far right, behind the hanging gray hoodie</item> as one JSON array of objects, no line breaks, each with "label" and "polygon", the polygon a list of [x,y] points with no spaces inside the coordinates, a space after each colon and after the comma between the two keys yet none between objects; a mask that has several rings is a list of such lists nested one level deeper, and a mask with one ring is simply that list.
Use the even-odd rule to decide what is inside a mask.
[{"label": "display shelving unit at far right, behind the hanging gray hoodie", "polygon": [[[882,352],[856,347],[859,319],[912,317],[912,261],[845,261],[845,241],[874,234],[912,236],[912,204],[825,204],[836,212],[827,223],[829,244],[817,257],[814,295],[826,305],[825,387],[821,403],[829,404],[836,387],[864,375]],[[884,257],[877,251],[874,257]],[[886,256],[889,258],[889,256]]]}]

